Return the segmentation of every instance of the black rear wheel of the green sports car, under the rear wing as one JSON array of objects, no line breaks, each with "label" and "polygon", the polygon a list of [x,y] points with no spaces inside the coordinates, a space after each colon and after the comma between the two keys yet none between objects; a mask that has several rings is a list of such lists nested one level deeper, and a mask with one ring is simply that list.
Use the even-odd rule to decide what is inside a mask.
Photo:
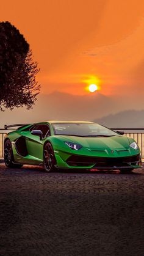
[{"label": "black rear wheel of the green sports car, under the rear wing", "polygon": [[13,151],[12,151],[12,143],[9,139],[4,142],[4,163],[5,166],[9,168],[20,168],[23,164],[14,164],[13,163]]}]

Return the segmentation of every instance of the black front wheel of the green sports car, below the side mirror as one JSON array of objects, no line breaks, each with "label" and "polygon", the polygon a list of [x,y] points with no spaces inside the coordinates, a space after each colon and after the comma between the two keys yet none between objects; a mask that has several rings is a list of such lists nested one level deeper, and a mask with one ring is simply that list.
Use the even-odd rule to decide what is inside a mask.
[{"label": "black front wheel of the green sports car, below the side mirror", "polygon": [[56,158],[51,143],[47,142],[43,148],[43,164],[46,172],[54,172]]}]

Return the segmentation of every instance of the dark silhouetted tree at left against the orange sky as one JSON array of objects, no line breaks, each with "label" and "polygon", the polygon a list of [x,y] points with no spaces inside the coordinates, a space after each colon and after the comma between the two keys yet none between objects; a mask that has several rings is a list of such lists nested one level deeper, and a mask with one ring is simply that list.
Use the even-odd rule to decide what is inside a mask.
[{"label": "dark silhouetted tree at left against the orange sky", "polygon": [[32,108],[40,92],[37,62],[20,31],[9,21],[0,23],[0,110]]}]

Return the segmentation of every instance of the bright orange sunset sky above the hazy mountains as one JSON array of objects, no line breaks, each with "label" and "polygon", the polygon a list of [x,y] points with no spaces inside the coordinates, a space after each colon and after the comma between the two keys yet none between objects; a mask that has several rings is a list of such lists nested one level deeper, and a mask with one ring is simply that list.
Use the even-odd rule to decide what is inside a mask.
[{"label": "bright orange sunset sky above the hazy mountains", "polygon": [[91,78],[104,95],[143,92],[143,0],[7,0],[0,16],[30,43],[41,93],[83,95]]}]

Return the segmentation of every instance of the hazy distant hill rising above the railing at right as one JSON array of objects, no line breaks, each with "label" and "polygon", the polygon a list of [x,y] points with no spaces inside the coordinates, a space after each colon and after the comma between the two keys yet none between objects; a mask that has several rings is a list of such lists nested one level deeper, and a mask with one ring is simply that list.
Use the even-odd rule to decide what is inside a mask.
[{"label": "hazy distant hill rising above the railing at right", "polygon": [[100,119],[94,119],[93,122],[110,128],[144,128],[144,110],[122,111]]}]

